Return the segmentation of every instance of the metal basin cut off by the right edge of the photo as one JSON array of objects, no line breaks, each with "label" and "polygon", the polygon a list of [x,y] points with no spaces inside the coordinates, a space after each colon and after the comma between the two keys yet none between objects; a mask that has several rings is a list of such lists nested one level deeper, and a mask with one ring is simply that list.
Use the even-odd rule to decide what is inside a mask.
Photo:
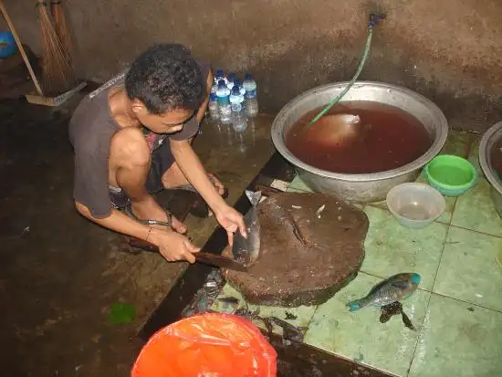
[{"label": "metal basin cut off by the right edge of the photo", "polygon": [[502,121],[491,126],[481,138],[479,143],[479,164],[486,179],[491,183],[490,195],[497,209],[498,215],[502,216],[502,182],[498,178],[497,172],[491,162],[491,152],[493,146],[502,138]]}]

